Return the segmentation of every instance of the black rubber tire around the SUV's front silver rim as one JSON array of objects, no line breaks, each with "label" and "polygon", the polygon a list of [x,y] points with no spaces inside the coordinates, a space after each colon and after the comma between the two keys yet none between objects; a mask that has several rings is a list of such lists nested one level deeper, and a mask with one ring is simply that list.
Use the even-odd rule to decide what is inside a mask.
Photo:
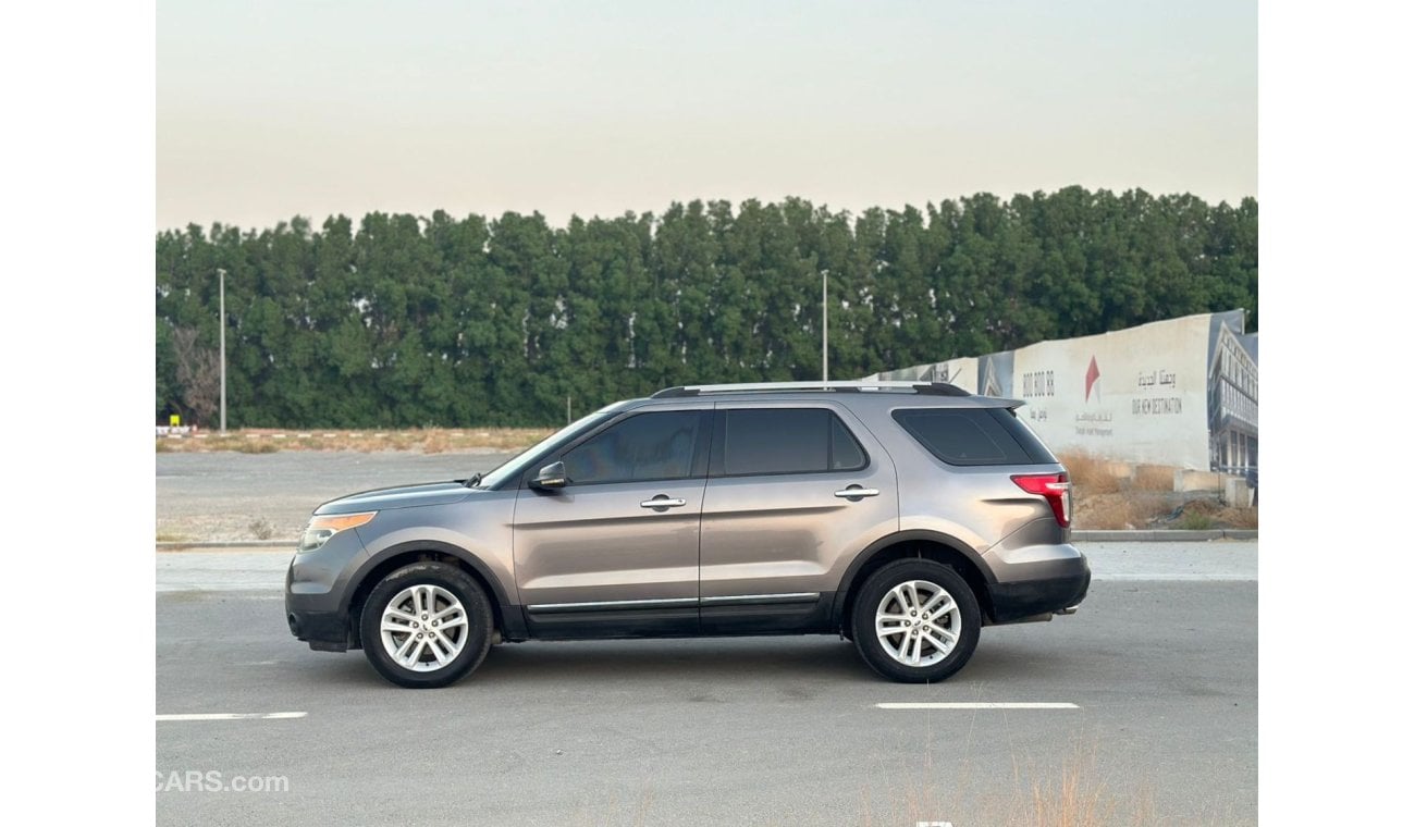
[{"label": "black rubber tire around the SUV's front silver rim", "polygon": [[[410,625],[417,623],[417,632],[412,628],[406,633],[392,632],[389,639],[395,645],[406,642],[410,646],[408,657],[416,659],[419,669],[410,669],[395,660],[393,653],[386,650],[381,629],[383,614],[391,608],[389,604],[408,590],[413,590],[413,595],[402,599],[402,606],[410,606],[409,599],[430,599],[433,611],[409,618]],[[454,612],[446,618],[447,626],[436,632],[432,629],[436,622],[430,618],[436,618],[439,611],[446,611],[451,605],[447,602],[446,594],[439,594],[436,590],[449,592],[461,604],[466,616],[464,626],[453,625],[456,623]],[[446,632],[449,628],[453,632]],[[415,633],[422,635],[423,629],[427,633],[426,642],[422,638],[410,639]],[[491,649],[492,629],[494,619],[487,592],[467,573],[444,563],[415,563],[393,571],[368,594],[368,601],[364,602],[364,612],[359,616],[359,635],[368,662],[392,683],[409,688],[439,688],[461,680],[473,669],[477,669],[487,656]],[[458,633],[466,638],[457,638]],[[433,642],[434,635],[439,643]],[[460,642],[460,649],[451,655],[457,642]],[[446,664],[437,663],[433,649],[437,649],[437,655],[447,657]]]}]

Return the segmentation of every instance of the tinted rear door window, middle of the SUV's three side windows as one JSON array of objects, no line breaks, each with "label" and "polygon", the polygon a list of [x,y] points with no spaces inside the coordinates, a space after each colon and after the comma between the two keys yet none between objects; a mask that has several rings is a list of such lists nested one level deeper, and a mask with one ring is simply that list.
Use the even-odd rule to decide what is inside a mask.
[{"label": "tinted rear door window, middle of the SUV's three side windows", "polygon": [[717,421],[715,476],[857,471],[869,462],[845,423],[825,409],[724,410]]}]

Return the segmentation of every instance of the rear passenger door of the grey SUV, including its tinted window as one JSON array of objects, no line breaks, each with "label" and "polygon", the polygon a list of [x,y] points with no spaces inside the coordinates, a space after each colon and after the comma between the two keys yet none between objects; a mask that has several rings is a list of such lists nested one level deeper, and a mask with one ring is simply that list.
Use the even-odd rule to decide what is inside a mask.
[{"label": "rear passenger door of the grey SUV, including its tinted window", "polygon": [[826,630],[850,560],[897,529],[894,467],[848,409],[719,403],[703,495],[702,632]]}]

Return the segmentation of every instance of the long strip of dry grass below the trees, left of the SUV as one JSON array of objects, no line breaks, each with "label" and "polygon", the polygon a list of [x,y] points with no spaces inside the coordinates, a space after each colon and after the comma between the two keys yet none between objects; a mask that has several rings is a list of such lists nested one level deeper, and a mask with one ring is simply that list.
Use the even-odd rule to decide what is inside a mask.
[{"label": "long strip of dry grass below the trees, left of the SUV", "polygon": [[239,451],[518,451],[550,434],[550,428],[413,428],[388,431],[245,428],[225,435],[204,433],[181,438],[157,437],[158,452]]}]

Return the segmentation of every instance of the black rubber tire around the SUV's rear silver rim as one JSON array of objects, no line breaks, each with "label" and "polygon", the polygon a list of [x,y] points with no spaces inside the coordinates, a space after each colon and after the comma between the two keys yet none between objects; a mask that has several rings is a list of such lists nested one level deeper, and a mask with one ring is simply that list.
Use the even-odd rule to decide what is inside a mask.
[{"label": "black rubber tire around the SUV's rear silver rim", "polygon": [[[931,623],[924,626],[928,629],[928,635],[937,635],[945,643],[949,642],[942,630],[951,630],[957,635],[957,642],[951,642],[951,649],[947,649],[947,655],[942,659],[935,663],[921,663],[920,666],[901,663],[891,655],[890,649],[886,649],[886,642],[880,640],[874,628],[876,614],[880,611],[880,604],[886,601],[886,597],[896,587],[913,581],[923,581],[924,584],[942,588],[947,597],[957,605],[957,614],[949,611],[941,621],[937,616],[931,616]],[[899,606],[897,602],[893,602],[894,598],[890,599],[889,608]],[[947,606],[948,604],[944,602],[941,605]],[[937,612],[938,609],[935,608],[934,611]],[[910,616],[907,615],[907,609],[901,612],[901,616]],[[908,639],[910,632],[917,638],[918,632],[924,629],[920,625],[925,623],[925,621],[917,615],[910,618],[908,630],[890,635],[887,640],[899,646],[903,640]],[[978,647],[978,633],[981,629],[982,614],[978,609],[978,598],[962,575],[948,565],[920,558],[886,563],[870,574],[865,584],[860,585],[860,595],[855,601],[850,615],[850,630],[853,632],[855,647],[860,652],[860,657],[874,671],[900,683],[934,683],[945,680],[962,669],[968,663],[968,659],[972,657],[974,649]],[[945,652],[945,649],[934,646],[928,635],[924,636],[923,643],[917,645],[921,652],[921,662]],[[907,655],[913,655],[913,646],[916,645],[910,643]]]}]

